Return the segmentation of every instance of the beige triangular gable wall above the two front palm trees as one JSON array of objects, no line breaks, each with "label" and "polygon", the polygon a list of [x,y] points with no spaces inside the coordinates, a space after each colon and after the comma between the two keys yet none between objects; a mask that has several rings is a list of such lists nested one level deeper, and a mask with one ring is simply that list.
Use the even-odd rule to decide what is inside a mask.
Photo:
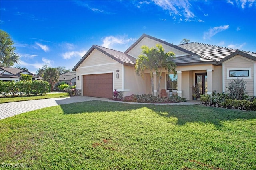
[{"label": "beige triangular gable wall above the two front palm trees", "polygon": [[140,48],[142,45],[146,45],[149,48],[151,47],[155,47],[156,48],[156,44],[162,44],[162,46],[164,47],[164,51],[167,53],[169,51],[173,51],[175,53],[176,56],[178,55],[188,55],[187,53],[184,53],[183,51],[180,51],[178,49],[174,49],[168,45],[165,45],[163,43],[160,43],[159,41],[155,41],[153,39],[150,39],[148,37],[144,37],[131,51],[128,52],[129,55],[137,58],[138,55],[141,54],[142,49]]}]

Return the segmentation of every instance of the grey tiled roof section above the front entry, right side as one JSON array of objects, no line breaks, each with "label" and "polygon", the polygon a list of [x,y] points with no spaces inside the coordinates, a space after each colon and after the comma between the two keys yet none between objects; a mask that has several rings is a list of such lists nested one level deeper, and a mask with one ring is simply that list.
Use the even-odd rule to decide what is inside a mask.
[{"label": "grey tiled roof section above the front entry, right side", "polygon": [[[227,47],[221,47],[216,45],[209,45],[203,43],[186,43],[177,45],[186,50],[197,53],[200,57],[204,57],[205,59],[209,59],[212,61],[216,61],[217,64],[222,64],[223,61],[226,61],[234,55],[239,54],[249,59],[256,59],[256,53],[248,52],[248,51],[239,51],[236,49],[231,49]],[[255,60],[254,59],[254,60]]]}]

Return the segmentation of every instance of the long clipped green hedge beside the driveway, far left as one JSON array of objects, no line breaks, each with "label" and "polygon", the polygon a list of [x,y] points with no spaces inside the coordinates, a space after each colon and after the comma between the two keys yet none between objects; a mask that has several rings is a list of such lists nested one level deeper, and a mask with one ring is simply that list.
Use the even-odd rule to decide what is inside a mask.
[{"label": "long clipped green hedge beside the driveway, far left", "polygon": [[28,80],[28,81],[0,81],[0,94],[4,97],[7,95],[19,96],[23,95],[43,95],[49,91],[50,84],[46,81],[41,80]]}]

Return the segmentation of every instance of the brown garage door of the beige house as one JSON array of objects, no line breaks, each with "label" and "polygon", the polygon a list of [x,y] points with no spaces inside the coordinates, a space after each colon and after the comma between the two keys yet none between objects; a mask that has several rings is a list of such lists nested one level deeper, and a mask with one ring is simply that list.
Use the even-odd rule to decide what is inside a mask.
[{"label": "brown garage door of the beige house", "polygon": [[84,75],[83,79],[84,96],[112,99],[113,73]]}]

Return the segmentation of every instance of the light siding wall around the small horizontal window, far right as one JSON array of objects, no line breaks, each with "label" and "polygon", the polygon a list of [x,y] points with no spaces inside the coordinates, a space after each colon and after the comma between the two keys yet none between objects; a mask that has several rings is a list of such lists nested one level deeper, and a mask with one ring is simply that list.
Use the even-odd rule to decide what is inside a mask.
[{"label": "light siding wall around the small horizontal window, far right", "polygon": [[[248,95],[255,95],[254,93],[254,79],[255,79],[255,73],[254,73],[254,65],[255,61],[252,61],[250,59],[247,59],[245,57],[242,57],[240,55],[236,55],[232,57],[231,59],[225,61],[223,63],[223,69],[224,69],[224,87],[228,86],[228,82],[231,82],[233,78],[229,78],[229,71],[230,69],[234,70],[249,70],[249,76],[250,77],[241,77],[246,81],[246,91],[248,92]],[[244,69],[245,68],[245,69]],[[234,79],[241,79],[240,77],[234,77]],[[225,89],[223,89],[225,90]]]}]

